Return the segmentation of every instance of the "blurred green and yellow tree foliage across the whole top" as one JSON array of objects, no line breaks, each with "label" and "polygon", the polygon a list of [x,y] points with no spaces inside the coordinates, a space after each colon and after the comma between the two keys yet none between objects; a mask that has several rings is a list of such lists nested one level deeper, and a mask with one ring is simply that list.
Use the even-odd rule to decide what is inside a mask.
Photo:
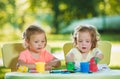
[{"label": "blurred green and yellow tree foliage across the whole top", "polygon": [[[105,2],[105,3],[104,3]],[[0,0],[0,25],[24,28],[32,21],[46,23],[60,33],[73,20],[119,15],[120,0]],[[105,8],[104,8],[105,4]]]}]

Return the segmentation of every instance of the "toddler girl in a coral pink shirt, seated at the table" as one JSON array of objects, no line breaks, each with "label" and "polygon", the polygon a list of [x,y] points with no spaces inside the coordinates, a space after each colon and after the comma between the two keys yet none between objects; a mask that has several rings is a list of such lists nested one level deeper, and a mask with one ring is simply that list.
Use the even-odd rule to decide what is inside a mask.
[{"label": "toddler girl in a coral pink shirt, seated at the table", "polygon": [[45,49],[47,38],[45,31],[36,25],[30,25],[23,33],[26,50],[18,58],[18,65],[35,68],[35,63],[45,62],[45,70],[61,65],[60,60]]}]

